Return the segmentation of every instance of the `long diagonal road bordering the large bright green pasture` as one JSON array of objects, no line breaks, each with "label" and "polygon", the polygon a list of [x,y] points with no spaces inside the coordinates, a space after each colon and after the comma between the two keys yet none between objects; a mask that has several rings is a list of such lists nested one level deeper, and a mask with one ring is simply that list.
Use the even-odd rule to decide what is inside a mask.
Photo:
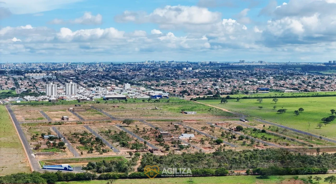
[{"label": "long diagonal road bordering the large bright green pasture", "polygon": [[[196,103],[201,103],[201,102],[196,102]],[[206,104],[206,103],[202,103],[204,105],[208,105],[208,106],[211,106],[211,107],[215,107],[215,108],[219,108],[219,107],[216,107],[216,106],[213,106],[213,105],[209,105],[209,104]],[[219,109],[222,109],[222,108],[219,108]],[[223,109],[222,109],[223,110]],[[229,110],[226,110],[227,112],[230,112],[230,113],[233,113],[233,114],[236,114],[238,115],[239,117],[242,117],[242,118],[255,118],[253,116],[249,116],[249,115],[246,115],[246,114],[242,114],[242,113],[239,113],[239,112],[235,112],[235,111],[229,111]],[[291,130],[291,131],[294,131],[294,132],[298,132],[300,134],[304,134],[304,135],[309,135],[309,136],[312,136],[312,137],[316,137],[318,139],[320,139],[320,135],[316,135],[316,134],[312,134],[312,133],[309,133],[309,132],[305,132],[305,131],[302,131],[302,130],[297,130],[295,128],[291,128],[291,127],[287,127],[287,126],[284,126],[284,125],[280,125],[280,124],[277,124],[277,123],[273,123],[273,122],[269,122],[269,121],[266,121],[266,120],[262,120],[262,119],[259,119],[257,118],[260,122],[263,122],[263,123],[266,123],[266,124],[270,124],[270,125],[274,125],[274,126],[277,126],[277,127],[280,127],[280,128],[284,128],[284,129],[287,129],[287,130]],[[336,140],[334,139],[330,139],[330,138],[327,138],[327,137],[323,137],[321,136],[323,140],[326,140],[326,141],[330,141],[330,142],[333,142],[333,143],[336,143]]]}]

